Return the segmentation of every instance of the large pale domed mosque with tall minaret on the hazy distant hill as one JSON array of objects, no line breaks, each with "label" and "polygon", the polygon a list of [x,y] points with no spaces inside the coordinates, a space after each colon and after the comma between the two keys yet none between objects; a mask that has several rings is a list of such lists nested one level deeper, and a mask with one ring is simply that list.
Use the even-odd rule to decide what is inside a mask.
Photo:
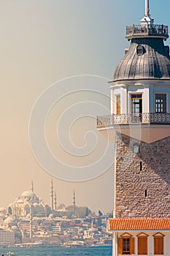
[{"label": "large pale domed mosque with tall minaret on the hazy distant hill", "polygon": [[51,206],[43,202],[34,192],[33,182],[31,189],[23,192],[20,197],[16,198],[13,203],[8,206],[8,214],[12,217],[28,217],[32,214],[33,217],[48,217],[56,210],[56,193],[53,195],[53,180],[51,181]]}]

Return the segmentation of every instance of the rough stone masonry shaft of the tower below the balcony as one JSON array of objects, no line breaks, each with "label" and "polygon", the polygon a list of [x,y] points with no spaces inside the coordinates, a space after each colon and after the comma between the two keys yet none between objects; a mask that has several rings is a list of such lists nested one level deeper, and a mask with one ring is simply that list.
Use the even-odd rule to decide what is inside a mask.
[{"label": "rough stone masonry shaft of the tower below the balcony", "polygon": [[116,145],[116,217],[170,218],[170,137],[148,144],[117,133]]}]

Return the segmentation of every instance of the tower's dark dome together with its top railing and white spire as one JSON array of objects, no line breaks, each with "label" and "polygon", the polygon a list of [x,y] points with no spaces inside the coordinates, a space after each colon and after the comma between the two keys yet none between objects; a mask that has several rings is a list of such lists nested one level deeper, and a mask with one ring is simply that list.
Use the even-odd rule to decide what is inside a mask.
[{"label": "tower's dark dome together with its top railing and white spire", "polygon": [[126,27],[126,39],[130,48],[117,65],[113,81],[170,79],[169,46],[163,40],[169,38],[168,26],[155,25],[150,18],[149,2],[140,25]]}]

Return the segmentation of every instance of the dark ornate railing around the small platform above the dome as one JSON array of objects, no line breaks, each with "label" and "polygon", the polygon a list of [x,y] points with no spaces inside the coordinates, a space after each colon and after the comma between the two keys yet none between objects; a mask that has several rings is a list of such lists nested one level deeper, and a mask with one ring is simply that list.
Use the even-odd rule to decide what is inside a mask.
[{"label": "dark ornate railing around the small platform above the dome", "polygon": [[143,36],[163,37],[164,39],[167,39],[169,38],[169,28],[168,26],[155,24],[126,26],[127,39]]}]

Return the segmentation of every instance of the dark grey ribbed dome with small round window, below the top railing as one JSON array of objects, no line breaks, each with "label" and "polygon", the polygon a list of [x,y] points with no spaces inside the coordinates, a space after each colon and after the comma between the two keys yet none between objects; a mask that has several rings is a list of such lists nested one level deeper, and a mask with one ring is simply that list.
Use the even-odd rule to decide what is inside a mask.
[{"label": "dark grey ribbed dome with small round window, below the top railing", "polygon": [[170,79],[169,47],[161,38],[135,38],[117,65],[114,81]]}]

